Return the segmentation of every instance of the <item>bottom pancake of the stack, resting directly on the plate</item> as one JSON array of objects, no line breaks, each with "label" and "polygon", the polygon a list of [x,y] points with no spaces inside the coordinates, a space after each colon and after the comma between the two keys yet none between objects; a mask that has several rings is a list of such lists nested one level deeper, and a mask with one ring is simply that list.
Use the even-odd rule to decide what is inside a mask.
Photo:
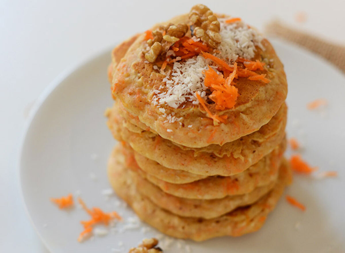
[{"label": "bottom pancake of the stack, resting directly on the plate", "polygon": [[286,162],[283,162],[279,171],[279,180],[273,190],[256,203],[212,219],[181,217],[158,207],[139,193],[132,178],[134,172],[125,168],[121,161],[110,159],[108,178],[117,195],[132,207],[142,221],[169,236],[204,241],[225,235],[240,236],[262,227],[285,186],[291,182],[291,172]]}]

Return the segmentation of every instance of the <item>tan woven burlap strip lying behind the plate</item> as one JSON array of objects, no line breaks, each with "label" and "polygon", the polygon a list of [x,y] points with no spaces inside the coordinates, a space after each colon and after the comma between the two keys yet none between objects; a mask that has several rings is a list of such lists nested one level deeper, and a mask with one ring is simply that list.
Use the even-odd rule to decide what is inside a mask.
[{"label": "tan woven burlap strip lying behind the plate", "polygon": [[314,35],[289,28],[277,20],[269,22],[265,27],[265,32],[267,35],[286,39],[323,56],[345,73],[344,46],[336,45]]}]

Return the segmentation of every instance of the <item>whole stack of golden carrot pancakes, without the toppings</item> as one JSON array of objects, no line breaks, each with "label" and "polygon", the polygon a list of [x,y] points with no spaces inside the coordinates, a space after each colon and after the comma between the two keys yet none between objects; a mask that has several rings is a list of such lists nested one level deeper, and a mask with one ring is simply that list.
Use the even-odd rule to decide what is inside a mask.
[{"label": "whole stack of golden carrot pancakes, without the toppings", "polygon": [[273,47],[263,39],[265,50],[252,59],[269,59],[270,83],[238,78],[236,105],[222,111],[227,123],[214,124],[200,105],[162,112],[151,102],[164,75],[142,57],[144,36],[117,46],[108,69],[115,104],[106,115],[119,140],[109,159],[112,187],[170,236],[202,241],[256,231],[291,180],[283,158],[287,84]]}]

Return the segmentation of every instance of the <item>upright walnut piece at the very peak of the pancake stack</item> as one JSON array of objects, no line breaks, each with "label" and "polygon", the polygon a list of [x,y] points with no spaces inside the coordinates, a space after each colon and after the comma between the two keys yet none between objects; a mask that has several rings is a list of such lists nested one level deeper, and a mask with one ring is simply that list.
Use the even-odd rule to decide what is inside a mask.
[{"label": "upright walnut piece at the very peak of the pancake stack", "polygon": [[189,20],[194,25],[194,35],[216,48],[221,42],[220,24],[213,12],[204,4],[193,6],[189,12]]}]

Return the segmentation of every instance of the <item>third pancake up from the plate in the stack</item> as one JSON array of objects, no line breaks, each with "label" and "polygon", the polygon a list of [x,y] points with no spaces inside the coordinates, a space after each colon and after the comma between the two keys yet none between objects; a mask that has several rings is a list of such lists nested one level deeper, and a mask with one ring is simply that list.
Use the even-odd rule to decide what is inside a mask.
[{"label": "third pancake up from the plate in the stack", "polygon": [[[190,199],[216,199],[228,195],[246,194],[256,187],[265,186],[275,181],[285,150],[285,142],[280,146],[240,174],[229,177],[211,176],[187,184],[171,184],[158,179],[155,175],[147,174],[140,169],[130,154],[129,156],[125,155],[125,161],[126,167],[136,171],[142,178],[147,179],[168,194]],[[122,153],[124,152],[122,151]]]}]

